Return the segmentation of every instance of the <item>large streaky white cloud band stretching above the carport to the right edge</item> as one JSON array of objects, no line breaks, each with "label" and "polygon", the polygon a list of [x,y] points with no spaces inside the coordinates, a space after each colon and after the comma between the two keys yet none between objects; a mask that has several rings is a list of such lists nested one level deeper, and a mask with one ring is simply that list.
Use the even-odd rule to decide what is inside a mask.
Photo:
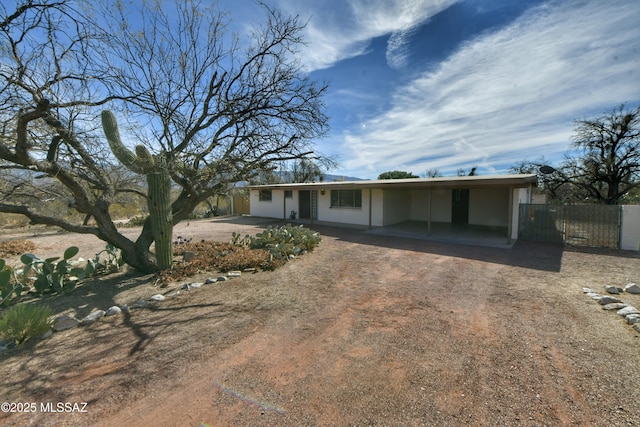
[{"label": "large streaky white cloud band stretching above the carport to the right edge", "polygon": [[344,135],[342,164],[370,177],[558,158],[574,119],[640,101],[638,22],[635,0],[531,10],[398,90],[391,109]]}]

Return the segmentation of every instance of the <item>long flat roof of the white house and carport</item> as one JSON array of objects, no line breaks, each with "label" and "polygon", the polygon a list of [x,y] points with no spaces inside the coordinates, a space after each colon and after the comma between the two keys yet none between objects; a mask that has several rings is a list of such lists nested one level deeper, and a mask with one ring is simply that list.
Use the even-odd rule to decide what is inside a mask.
[{"label": "long flat roof of the white house and carport", "polygon": [[259,190],[339,189],[339,188],[471,188],[471,187],[529,187],[537,185],[536,174],[449,176],[436,178],[372,179],[361,181],[323,181],[290,184],[250,185]]}]

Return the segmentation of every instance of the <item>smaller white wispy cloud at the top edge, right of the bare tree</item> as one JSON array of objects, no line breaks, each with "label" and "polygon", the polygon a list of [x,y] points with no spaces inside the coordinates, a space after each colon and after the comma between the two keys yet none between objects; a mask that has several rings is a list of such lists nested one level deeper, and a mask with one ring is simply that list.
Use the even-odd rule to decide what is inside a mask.
[{"label": "smaller white wispy cloud at the top edge, right of the bare tree", "polygon": [[291,14],[310,17],[301,51],[309,70],[328,68],[344,59],[363,55],[375,37],[391,34],[387,51],[390,66],[402,65],[404,38],[416,25],[441,12],[458,0],[280,0],[280,7]]}]

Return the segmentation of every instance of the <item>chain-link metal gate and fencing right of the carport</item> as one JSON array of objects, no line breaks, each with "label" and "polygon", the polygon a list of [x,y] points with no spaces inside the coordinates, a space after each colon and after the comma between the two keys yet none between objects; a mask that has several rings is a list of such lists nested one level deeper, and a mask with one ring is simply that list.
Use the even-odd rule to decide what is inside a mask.
[{"label": "chain-link metal gate and fencing right of the carport", "polygon": [[521,204],[518,237],[618,249],[621,215],[622,209],[617,205]]}]

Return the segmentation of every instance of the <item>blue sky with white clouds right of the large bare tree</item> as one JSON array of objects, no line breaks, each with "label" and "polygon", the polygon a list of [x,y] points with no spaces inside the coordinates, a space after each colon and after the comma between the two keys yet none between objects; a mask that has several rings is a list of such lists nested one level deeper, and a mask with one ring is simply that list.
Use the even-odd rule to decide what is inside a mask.
[{"label": "blue sky with white clouds right of the large bare tree", "polygon": [[[640,104],[637,0],[267,0],[309,19],[300,51],[327,80],[332,174],[506,173],[558,164],[574,120]],[[224,0],[234,25],[251,0]]]}]

